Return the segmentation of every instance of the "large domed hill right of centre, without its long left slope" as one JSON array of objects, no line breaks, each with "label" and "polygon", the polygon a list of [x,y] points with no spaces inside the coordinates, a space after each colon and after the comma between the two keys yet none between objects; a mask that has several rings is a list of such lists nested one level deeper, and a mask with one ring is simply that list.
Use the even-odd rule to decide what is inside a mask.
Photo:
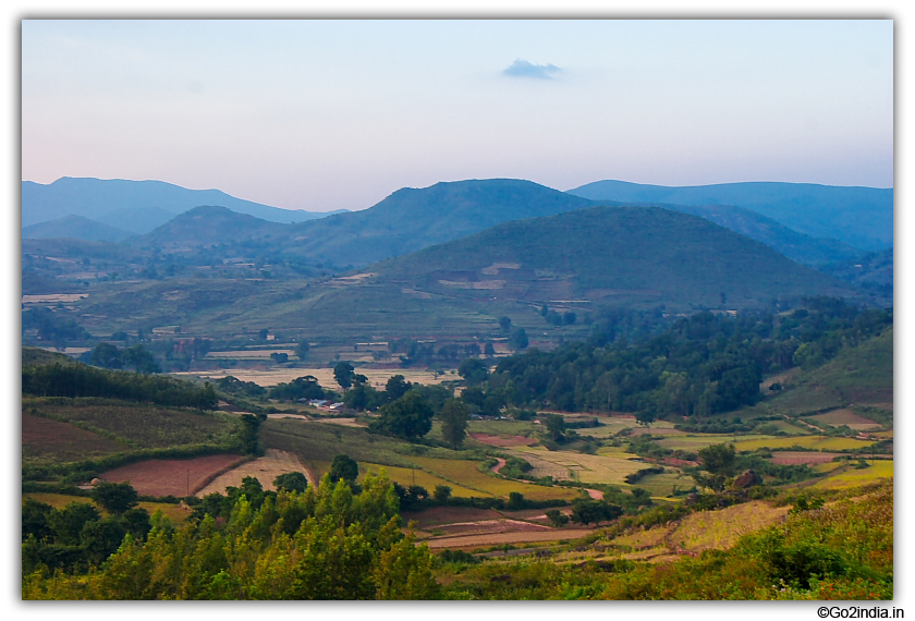
[{"label": "large domed hill right of centre, without its long left slope", "polygon": [[739,308],[850,295],[844,283],[701,218],[591,207],[512,221],[370,266],[380,281],[442,295]]}]

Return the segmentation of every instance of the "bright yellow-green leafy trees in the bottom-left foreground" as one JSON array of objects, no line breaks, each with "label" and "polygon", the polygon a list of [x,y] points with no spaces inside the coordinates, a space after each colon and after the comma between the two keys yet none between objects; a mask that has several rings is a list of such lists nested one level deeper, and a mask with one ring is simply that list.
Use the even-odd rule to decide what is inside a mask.
[{"label": "bright yellow-green leafy trees in the bottom-left foreground", "polygon": [[[401,532],[387,478],[359,494],[329,478],[280,491],[255,509],[242,495],[229,519],[174,528],[154,520],[87,573],[23,573],[23,599],[435,599],[432,556]],[[26,544],[23,545],[25,548]],[[25,552],[23,558],[26,558]]]}]

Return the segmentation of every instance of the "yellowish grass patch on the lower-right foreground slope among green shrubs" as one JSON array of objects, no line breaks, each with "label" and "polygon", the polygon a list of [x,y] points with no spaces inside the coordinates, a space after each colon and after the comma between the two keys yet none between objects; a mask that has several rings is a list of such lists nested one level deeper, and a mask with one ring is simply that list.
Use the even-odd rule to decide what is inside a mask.
[{"label": "yellowish grass patch on the lower-right foreground slope among green shrubs", "polygon": [[788,514],[789,509],[754,500],[720,511],[691,513],[680,522],[668,540],[691,552],[727,549],[743,535],[774,524]]}]

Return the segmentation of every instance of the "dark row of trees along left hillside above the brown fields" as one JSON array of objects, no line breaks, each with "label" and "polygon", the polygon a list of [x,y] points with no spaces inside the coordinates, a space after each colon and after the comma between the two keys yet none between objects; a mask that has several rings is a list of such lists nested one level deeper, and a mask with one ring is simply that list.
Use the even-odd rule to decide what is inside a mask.
[{"label": "dark row of trees along left hillside above the brown fields", "polygon": [[171,377],[107,370],[84,364],[27,366],[22,369],[22,392],[35,397],[102,397],[151,402],[176,407],[216,410],[216,391]]}]

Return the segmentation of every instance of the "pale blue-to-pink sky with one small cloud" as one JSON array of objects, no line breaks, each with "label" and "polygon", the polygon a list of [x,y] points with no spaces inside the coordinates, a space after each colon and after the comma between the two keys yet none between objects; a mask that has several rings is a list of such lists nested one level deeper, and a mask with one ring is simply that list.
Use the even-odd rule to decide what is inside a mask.
[{"label": "pale blue-to-pink sky with one small cloud", "polygon": [[892,20],[24,20],[22,180],[893,186]]}]

